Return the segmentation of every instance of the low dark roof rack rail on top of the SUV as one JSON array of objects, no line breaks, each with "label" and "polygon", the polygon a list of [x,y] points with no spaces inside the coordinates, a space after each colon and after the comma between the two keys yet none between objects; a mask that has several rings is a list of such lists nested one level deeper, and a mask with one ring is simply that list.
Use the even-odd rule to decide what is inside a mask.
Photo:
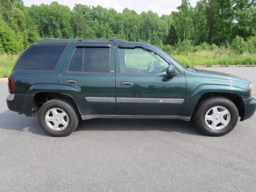
[{"label": "low dark roof rack rail on top of the SUV", "polygon": [[75,41],[126,41],[124,39],[119,39],[116,37],[109,37],[109,38],[84,38],[84,39],[58,39],[58,38],[45,38],[38,42],[75,42]]}]

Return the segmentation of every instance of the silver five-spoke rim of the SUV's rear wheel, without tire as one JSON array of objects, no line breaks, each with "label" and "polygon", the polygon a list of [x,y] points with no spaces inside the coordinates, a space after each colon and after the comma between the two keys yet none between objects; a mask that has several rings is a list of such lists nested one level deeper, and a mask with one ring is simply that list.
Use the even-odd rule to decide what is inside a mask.
[{"label": "silver five-spoke rim of the SUV's rear wheel, without tire", "polygon": [[45,116],[46,124],[54,131],[65,130],[69,124],[68,114],[59,108],[48,110]]}]

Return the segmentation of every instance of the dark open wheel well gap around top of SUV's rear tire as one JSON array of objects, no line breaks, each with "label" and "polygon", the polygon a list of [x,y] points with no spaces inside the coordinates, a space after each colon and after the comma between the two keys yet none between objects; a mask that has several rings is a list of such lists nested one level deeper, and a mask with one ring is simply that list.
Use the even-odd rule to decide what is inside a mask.
[{"label": "dark open wheel well gap around top of SUV's rear tire", "polygon": [[40,93],[36,93],[33,97],[33,101],[32,101],[32,108],[31,108],[31,113],[32,116],[37,116],[38,110],[40,109],[40,107],[46,103],[47,101],[51,100],[51,99],[60,99],[66,102],[69,102],[72,104],[72,106],[74,107],[74,109],[77,111],[77,113],[81,116],[81,113],[79,111],[78,105],[75,101],[75,99],[65,93],[57,93],[57,92],[40,92]]}]

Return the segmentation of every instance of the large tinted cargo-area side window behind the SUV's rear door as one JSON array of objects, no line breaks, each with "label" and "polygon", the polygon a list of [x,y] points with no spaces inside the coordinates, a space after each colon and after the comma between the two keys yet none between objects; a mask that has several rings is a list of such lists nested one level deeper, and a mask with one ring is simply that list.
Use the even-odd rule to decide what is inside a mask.
[{"label": "large tinted cargo-area side window behind the SUV's rear door", "polygon": [[66,46],[33,46],[18,60],[15,70],[53,71]]}]

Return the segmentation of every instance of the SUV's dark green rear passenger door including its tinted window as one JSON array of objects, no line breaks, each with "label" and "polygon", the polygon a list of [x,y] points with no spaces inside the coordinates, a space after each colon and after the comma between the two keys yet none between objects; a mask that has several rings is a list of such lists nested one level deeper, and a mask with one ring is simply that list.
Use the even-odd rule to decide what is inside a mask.
[{"label": "SUV's dark green rear passenger door including its tinted window", "polygon": [[82,116],[116,114],[113,43],[75,42],[60,73],[58,91],[75,99]]}]

